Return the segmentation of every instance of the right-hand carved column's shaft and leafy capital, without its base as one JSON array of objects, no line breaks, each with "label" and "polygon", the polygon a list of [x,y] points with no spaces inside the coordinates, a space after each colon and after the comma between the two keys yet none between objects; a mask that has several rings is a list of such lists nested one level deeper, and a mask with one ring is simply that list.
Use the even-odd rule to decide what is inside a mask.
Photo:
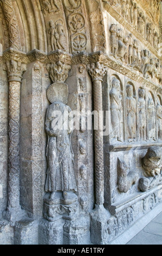
[{"label": "right-hand carved column's shaft and leafy capital, without its base", "polygon": [[[102,117],[102,78],[107,68],[99,62],[87,66],[93,80],[94,99],[94,147],[95,147],[95,203],[104,203],[104,177],[103,177],[103,117]],[[98,115],[98,117],[96,117]]]}]

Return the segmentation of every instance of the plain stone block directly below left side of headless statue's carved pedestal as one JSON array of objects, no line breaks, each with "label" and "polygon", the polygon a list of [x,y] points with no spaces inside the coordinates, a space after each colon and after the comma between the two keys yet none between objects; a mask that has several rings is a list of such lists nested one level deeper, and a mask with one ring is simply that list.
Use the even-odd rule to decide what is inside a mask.
[{"label": "plain stone block directly below left side of headless statue's carved pedestal", "polygon": [[62,245],[63,225],[64,220],[62,219],[55,222],[50,222],[43,219],[39,225],[39,244]]}]

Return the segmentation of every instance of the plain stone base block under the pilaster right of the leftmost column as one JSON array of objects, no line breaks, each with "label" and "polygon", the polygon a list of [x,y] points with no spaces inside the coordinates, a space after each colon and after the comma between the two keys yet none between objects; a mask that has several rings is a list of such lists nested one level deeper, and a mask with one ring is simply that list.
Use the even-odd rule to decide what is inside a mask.
[{"label": "plain stone base block under the pilaster right of the leftmost column", "polygon": [[38,245],[38,222],[31,220],[16,222],[14,245]]}]

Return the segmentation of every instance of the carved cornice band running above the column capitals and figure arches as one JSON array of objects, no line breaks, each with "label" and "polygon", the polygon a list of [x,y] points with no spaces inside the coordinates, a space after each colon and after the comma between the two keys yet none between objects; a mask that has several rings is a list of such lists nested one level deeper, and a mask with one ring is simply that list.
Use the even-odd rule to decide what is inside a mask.
[{"label": "carved cornice band running above the column capitals and figure arches", "polygon": [[16,62],[21,62],[25,64],[34,62],[36,60],[44,64],[56,63],[58,61],[61,61],[63,64],[68,65],[79,63],[88,65],[90,63],[99,62],[100,64],[107,66],[107,68],[119,72],[120,74],[130,78],[131,80],[137,81],[143,87],[148,87],[152,90],[157,91],[158,93],[162,93],[162,88],[160,84],[155,84],[152,81],[147,80],[141,74],[139,75],[138,72],[135,72],[134,70],[120,63],[118,60],[107,56],[101,51],[90,54],[86,52],[81,52],[79,54],[72,55],[61,50],[56,50],[47,54],[39,50],[33,50],[29,53],[24,53],[14,50],[13,48],[9,48],[8,50],[4,51],[3,56],[0,57],[1,63],[6,63],[7,60],[15,60]]}]

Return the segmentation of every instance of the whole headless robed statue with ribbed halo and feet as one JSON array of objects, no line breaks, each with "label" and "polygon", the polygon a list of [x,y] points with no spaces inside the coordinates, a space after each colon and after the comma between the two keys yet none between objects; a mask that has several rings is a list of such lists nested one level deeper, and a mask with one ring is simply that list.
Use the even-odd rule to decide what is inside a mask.
[{"label": "whole headless robed statue with ribbed halo and feet", "polygon": [[62,82],[52,84],[47,90],[51,105],[46,114],[47,179],[46,192],[54,201],[57,192],[62,191],[64,201],[76,197],[76,182],[73,169],[74,154],[71,144],[73,132],[72,110],[67,106],[68,85]]}]

